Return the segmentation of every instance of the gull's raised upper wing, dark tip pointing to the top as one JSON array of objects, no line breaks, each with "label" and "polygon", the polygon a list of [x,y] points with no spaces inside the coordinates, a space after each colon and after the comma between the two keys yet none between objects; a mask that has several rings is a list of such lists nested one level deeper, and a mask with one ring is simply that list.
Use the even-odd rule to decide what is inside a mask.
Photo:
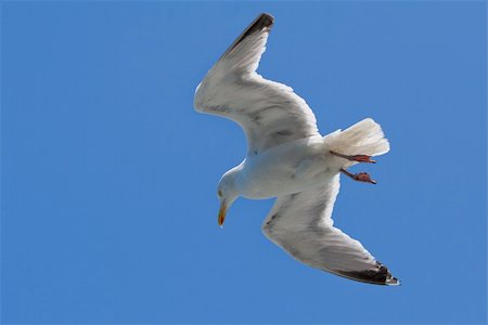
[{"label": "gull's raised upper wing, dark tip pointing to the top", "polygon": [[312,110],[292,88],[256,73],[272,24],[272,16],[259,15],[207,73],[194,98],[197,112],[244,129],[248,154],[319,134]]}]

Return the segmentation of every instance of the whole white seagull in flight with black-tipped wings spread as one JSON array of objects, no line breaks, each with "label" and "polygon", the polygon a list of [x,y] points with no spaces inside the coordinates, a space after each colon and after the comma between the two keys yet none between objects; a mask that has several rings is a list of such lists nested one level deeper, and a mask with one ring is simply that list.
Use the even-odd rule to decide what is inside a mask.
[{"label": "whole white seagull in flight with black-tipped wings spread", "polygon": [[305,100],[292,88],[256,73],[274,18],[260,14],[230,46],[196,87],[194,107],[237,122],[247,155],[227,171],[217,188],[218,224],[237,197],[277,197],[264,234],[296,260],[346,278],[399,285],[358,240],[333,225],[339,177],[375,184],[356,164],[389,151],[378,123],[367,118],[325,136]]}]

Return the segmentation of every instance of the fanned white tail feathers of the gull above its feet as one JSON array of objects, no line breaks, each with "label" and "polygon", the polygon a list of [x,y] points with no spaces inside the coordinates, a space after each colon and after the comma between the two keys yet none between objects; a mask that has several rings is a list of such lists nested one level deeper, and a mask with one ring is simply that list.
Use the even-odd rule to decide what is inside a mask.
[{"label": "fanned white tail feathers of the gull above its feet", "polygon": [[328,150],[343,155],[380,156],[389,152],[382,127],[365,118],[350,128],[337,130],[324,138]]}]

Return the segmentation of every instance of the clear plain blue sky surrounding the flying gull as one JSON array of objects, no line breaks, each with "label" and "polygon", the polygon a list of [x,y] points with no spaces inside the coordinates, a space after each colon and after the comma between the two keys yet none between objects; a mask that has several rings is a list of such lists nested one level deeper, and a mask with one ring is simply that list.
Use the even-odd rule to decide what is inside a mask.
[{"label": "clear plain blue sky surrounding the flying gull", "polygon": [[[403,285],[305,266],[260,232],[272,200],[217,226],[245,154],[196,84],[260,12],[259,72],[323,134],[373,117],[391,152],[343,178],[335,224]],[[485,323],[484,1],[3,2],[1,321]]]}]

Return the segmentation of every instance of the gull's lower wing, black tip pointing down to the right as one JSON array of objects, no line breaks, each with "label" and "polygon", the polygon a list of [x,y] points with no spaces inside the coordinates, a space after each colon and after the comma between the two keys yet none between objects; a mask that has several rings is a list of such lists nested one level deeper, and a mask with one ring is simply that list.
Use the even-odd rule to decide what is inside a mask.
[{"label": "gull's lower wing, black tip pointing down to the right", "polygon": [[337,227],[331,218],[339,176],[305,192],[280,196],[262,231],[298,261],[351,280],[398,285],[388,269]]}]

